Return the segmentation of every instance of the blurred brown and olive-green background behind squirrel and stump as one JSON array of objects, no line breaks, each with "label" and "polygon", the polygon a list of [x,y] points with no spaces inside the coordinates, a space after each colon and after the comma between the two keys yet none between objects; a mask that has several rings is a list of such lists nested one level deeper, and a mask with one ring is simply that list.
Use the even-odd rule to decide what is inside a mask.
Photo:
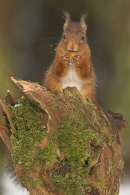
[{"label": "blurred brown and olive-green background behind squirrel and stump", "polygon": [[[21,96],[10,76],[42,84],[62,35],[63,10],[76,21],[87,13],[97,100],[105,110],[122,113],[130,121],[130,0],[0,0],[0,98],[8,89],[16,99]],[[129,126],[122,131],[122,145],[125,168],[120,194],[127,195]],[[0,139],[0,195],[20,194],[5,177],[6,153]]]}]

